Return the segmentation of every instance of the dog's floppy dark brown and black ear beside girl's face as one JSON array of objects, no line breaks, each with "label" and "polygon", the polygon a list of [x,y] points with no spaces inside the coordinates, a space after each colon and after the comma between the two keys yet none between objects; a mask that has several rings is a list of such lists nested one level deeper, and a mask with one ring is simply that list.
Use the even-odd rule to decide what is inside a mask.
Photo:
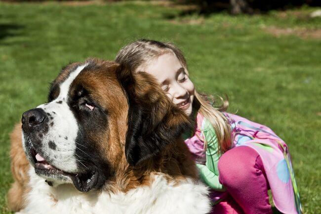
[{"label": "dog's floppy dark brown and black ear beside girl's face", "polygon": [[132,73],[120,65],[118,78],[129,104],[125,155],[127,162],[135,166],[175,142],[190,127],[190,120],[151,75]]}]

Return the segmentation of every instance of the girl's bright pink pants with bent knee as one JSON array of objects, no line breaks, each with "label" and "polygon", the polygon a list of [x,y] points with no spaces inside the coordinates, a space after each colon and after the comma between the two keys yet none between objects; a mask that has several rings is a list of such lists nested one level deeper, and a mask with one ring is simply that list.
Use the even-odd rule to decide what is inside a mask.
[{"label": "girl's bright pink pants with bent knee", "polygon": [[220,182],[229,196],[213,214],[272,214],[269,183],[259,154],[248,146],[235,147],[218,162]]}]

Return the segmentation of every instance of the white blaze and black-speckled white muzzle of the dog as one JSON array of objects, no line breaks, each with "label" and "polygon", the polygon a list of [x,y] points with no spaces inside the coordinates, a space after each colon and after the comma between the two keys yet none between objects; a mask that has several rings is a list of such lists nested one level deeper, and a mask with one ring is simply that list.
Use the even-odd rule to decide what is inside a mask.
[{"label": "white blaze and black-speckled white muzzle of the dog", "polygon": [[[50,157],[50,160],[47,160],[49,163],[62,171],[70,173],[77,172],[78,160],[75,157],[75,152],[78,123],[67,104],[68,93],[71,84],[86,65],[79,66],[60,84],[60,92],[55,100],[37,107],[42,108],[46,113],[50,114],[48,122],[49,131],[42,137],[43,155]],[[52,126],[50,126],[51,122],[53,123]],[[55,149],[49,147],[49,141],[55,143]]]}]

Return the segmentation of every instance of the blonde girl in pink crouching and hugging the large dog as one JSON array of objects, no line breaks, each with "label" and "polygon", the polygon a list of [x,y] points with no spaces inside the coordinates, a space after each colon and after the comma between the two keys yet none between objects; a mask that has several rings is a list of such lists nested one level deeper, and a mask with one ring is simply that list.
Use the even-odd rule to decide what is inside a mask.
[{"label": "blonde girl in pink crouching and hugging the large dog", "polygon": [[201,179],[209,185],[214,214],[272,214],[268,189],[284,214],[301,206],[287,146],[270,128],[212,107],[189,79],[183,53],[171,43],[139,40],[116,61],[154,75],[167,96],[195,122],[186,137]]}]

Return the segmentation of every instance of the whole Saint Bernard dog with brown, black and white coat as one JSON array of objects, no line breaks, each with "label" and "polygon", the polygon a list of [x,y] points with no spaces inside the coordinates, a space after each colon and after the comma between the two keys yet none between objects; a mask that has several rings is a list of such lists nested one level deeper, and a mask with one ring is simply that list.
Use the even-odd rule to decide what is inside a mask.
[{"label": "whole Saint Bernard dog with brown, black and white coat", "polygon": [[8,206],[16,214],[206,214],[208,190],[181,137],[188,124],[147,73],[100,59],[72,63],[11,134]]}]

